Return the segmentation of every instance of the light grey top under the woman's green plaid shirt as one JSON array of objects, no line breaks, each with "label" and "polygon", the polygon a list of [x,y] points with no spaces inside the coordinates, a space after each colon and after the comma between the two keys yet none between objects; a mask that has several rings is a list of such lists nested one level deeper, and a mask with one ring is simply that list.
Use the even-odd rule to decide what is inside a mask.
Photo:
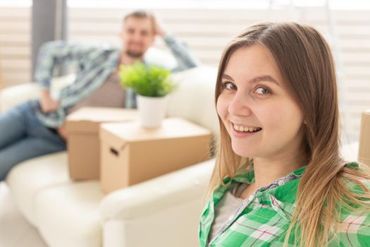
[{"label": "light grey top under the woman's green plaid shirt", "polygon": [[209,240],[214,239],[218,229],[238,209],[240,203],[243,201],[240,195],[242,195],[242,192],[247,186],[249,186],[248,183],[238,183],[233,190],[227,191],[217,203],[214,209],[214,222],[211,225],[211,231],[209,231]]}]

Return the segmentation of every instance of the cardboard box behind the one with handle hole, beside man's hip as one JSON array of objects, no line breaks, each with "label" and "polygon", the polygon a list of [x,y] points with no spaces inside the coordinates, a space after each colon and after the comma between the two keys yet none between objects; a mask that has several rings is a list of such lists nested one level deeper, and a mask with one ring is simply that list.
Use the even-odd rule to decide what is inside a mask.
[{"label": "cardboard box behind the one with handle hole, beside man's hip", "polygon": [[70,179],[99,179],[101,123],[137,119],[136,110],[83,107],[67,117],[67,150]]}]

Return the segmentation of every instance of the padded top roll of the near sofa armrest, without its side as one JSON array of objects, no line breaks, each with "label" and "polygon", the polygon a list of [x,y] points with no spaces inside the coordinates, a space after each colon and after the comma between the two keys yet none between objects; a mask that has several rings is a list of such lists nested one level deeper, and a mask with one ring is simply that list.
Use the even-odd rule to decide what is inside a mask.
[{"label": "padded top roll of the near sofa armrest, without its side", "polygon": [[[203,198],[214,159],[173,171],[164,176],[107,195],[100,204],[104,221],[131,219]],[[202,205],[199,205],[202,207]]]}]

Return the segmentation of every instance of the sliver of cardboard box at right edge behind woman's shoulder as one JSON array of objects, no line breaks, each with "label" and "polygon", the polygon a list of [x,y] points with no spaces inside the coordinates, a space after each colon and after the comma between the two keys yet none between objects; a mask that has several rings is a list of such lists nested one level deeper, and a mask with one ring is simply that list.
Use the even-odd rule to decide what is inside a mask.
[{"label": "sliver of cardboard box at right edge behind woman's shoulder", "polygon": [[362,113],[359,134],[359,162],[370,166],[370,109]]}]

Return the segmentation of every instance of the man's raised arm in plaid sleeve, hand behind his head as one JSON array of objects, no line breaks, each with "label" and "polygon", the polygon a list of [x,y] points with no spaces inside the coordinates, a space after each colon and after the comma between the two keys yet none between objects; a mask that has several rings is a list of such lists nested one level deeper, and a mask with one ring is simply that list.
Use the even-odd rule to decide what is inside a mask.
[{"label": "man's raised arm in plaid sleeve, hand behind his head", "polygon": [[190,52],[190,49],[186,44],[180,42],[174,35],[166,33],[156,17],[153,16],[152,21],[154,32],[156,35],[159,35],[164,39],[178,62],[178,66],[173,68],[173,71],[183,71],[187,68],[199,66],[199,60],[192,54],[192,52]]}]

